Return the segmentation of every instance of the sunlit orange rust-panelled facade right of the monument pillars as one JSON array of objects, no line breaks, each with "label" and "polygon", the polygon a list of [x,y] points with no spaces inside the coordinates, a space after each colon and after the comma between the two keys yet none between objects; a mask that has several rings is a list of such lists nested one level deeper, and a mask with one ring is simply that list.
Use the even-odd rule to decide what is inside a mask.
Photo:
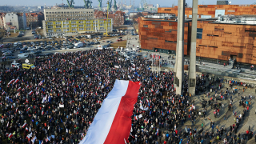
[{"label": "sunlit orange rust-panelled facade right of the monument pillars", "polygon": [[198,21],[197,56],[256,64],[256,25]]}]

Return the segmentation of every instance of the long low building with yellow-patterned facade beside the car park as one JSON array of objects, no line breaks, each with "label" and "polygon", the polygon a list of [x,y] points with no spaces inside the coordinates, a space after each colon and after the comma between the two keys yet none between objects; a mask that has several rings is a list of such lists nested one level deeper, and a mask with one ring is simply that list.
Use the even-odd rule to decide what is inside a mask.
[{"label": "long low building with yellow-patterned facade beside the car park", "polygon": [[43,21],[45,36],[63,36],[64,34],[96,33],[113,30],[112,19],[92,19],[92,20],[60,20]]}]

